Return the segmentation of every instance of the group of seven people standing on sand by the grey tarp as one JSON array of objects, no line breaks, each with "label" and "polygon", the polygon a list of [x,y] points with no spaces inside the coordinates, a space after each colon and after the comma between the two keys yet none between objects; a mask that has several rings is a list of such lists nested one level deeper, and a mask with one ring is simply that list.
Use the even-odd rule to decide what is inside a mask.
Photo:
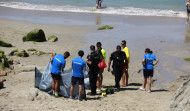
[{"label": "group of seven people standing on sand by the grey tarp", "polygon": [[[96,50],[97,47],[97,50]],[[83,72],[86,71],[86,64],[89,68],[89,82],[91,87],[91,95],[96,95],[101,92],[102,82],[103,82],[103,72],[106,67],[106,51],[102,48],[101,42],[97,42],[96,47],[94,45],[90,46],[91,53],[87,56],[87,60],[83,59],[84,51],[78,51],[78,57],[72,60],[73,75],[71,78],[71,88],[70,88],[70,99],[73,99],[73,90],[78,82],[79,85],[79,100],[82,96],[82,90],[84,85],[84,75]],[[121,50],[123,48],[123,50]],[[64,71],[66,61],[70,56],[70,53],[66,51],[63,55],[56,55],[52,58],[52,69],[51,75],[53,78],[52,89],[53,95],[58,97],[59,91],[59,80],[61,79],[60,73]],[[153,61],[156,62],[153,64]],[[126,41],[123,40],[121,45],[117,45],[116,51],[112,52],[108,61],[108,72],[111,71],[110,66],[112,64],[112,74],[115,76],[115,88],[116,91],[120,91],[120,80],[122,78],[121,86],[128,85],[128,66],[130,61],[129,49],[126,47]],[[112,63],[113,62],[113,63]],[[149,78],[149,92],[151,92],[151,77],[153,77],[153,66],[158,63],[158,59],[152,54],[150,49],[145,50],[145,55],[143,56],[143,72],[144,72],[144,85],[140,90],[145,90],[147,78]],[[102,64],[104,64],[102,66]]]}]

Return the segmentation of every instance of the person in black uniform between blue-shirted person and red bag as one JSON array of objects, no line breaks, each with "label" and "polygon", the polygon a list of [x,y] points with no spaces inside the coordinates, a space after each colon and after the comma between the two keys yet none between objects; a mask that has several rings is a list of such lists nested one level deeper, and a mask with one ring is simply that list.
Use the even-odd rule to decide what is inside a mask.
[{"label": "person in black uniform between blue-shirted person and red bag", "polygon": [[100,63],[100,56],[95,52],[95,46],[90,46],[90,55],[87,56],[87,65],[89,67],[89,80],[90,80],[90,87],[91,87],[91,95],[96,95],[96,82],[99,72],[98,63]]}]

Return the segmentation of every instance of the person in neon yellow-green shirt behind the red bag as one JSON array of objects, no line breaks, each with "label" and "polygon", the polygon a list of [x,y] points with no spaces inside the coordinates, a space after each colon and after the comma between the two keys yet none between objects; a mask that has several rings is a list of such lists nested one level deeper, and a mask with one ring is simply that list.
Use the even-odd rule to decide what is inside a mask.
[{"label": "person in neon yellow-green shirt behind the red bag", "polygon": [[[100,56],[101,61],[102,60],[106,60],[106,51],[102,48],[102,44],[101,42],[97,42],[96,44],[97,47],[97,53]],[[102,82],[103,82],[103,72],[104,72],[104,68],[99,69],[99,73],[98,73],[98,79],[97,79],[97,93],[100,93],[101,88],[102,88]]]}]

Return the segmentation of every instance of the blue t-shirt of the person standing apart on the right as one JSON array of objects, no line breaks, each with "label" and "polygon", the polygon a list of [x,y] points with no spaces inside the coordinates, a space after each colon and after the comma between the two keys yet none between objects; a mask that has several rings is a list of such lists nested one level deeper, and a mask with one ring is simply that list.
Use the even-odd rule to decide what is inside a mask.
[{"label": "blue t-shirt of the person standing apart on the right", "polygon": [[157,60],[154,54],[144,54],[143,59],[145,59],[145,65],[143,66],[143,69],[154,69],[153,61]]}]

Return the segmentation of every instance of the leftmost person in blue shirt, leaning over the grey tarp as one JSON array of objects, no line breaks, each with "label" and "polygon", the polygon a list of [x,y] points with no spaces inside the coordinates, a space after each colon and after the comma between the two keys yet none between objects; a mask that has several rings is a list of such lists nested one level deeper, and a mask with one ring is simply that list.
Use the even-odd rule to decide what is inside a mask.
[{"label": "leftmost person in blue shirt, leaning over the grey tarp", "polygon": [[55,95],[55,97],[59,97],[58,91],[59,91],[59,81],[61,79],[60,74],[61,74],[61,71],[64,71],[65,64],[66,64],[65,59],[67,59],[69,56],[70,56],[70,53],[66,51],[63,55],[62,54],[56,55],[51,60],[51,64],[52,64],[51,76],[53,79],[52,89],[53,89],[53,95]]}]

